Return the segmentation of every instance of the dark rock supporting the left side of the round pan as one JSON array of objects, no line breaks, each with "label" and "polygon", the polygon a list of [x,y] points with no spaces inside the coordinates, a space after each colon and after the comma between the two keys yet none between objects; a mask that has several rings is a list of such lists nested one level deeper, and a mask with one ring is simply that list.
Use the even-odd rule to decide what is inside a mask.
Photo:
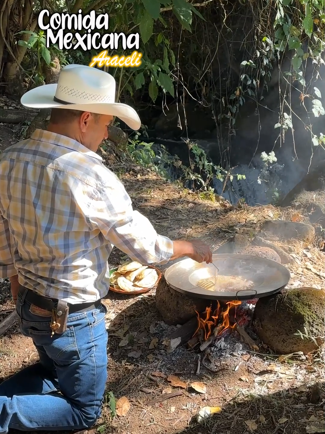
[{"label": "dark rock supporting the left side of the round pan", "polygon": [[162,319],[168,325],[185,324],[209,306],[209,300],[190,298],[179,293],[167,285],[164,276],[160,279],[156,289],[156,306]]}]

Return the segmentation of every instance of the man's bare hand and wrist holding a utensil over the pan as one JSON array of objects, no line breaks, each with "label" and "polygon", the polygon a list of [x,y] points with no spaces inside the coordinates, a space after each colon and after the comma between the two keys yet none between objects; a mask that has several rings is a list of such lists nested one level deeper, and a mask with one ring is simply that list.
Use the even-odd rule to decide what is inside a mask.
[{"label": "man's bare hand and wrist holding a utensil over the pan", "polygon": [[182,258],[183,256],[188,256],[192,260],[196,262],[212,262],[212,252],[210,247],[205,244],[203,241],[194,240],[194,241],[173,241],[174,246],[174,254],[170,258],[170,260]]}]

